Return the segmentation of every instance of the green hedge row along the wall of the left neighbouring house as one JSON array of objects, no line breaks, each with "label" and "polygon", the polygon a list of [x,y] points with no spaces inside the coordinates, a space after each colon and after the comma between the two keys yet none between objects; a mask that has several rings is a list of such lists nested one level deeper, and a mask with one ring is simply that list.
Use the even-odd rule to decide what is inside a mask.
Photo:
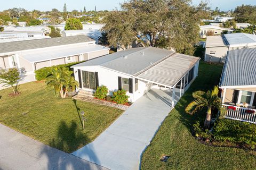
[{"label": "green hedge row along the wall of the left neighbouring house", "polygon": [[[73,62],[73,63],[68,63],[68,64],[61,64],[61,65],[57,65],[57,67],[68,67],[71,70],[71,66],[78,64],[81,62]],[[35,71],[35,77],[37,81],[41,81],[41,80],[45,80],[49,75],[51,75],[51,70],[54,66],[51,67],[43,67],[42,69],[38,69]]]}]

